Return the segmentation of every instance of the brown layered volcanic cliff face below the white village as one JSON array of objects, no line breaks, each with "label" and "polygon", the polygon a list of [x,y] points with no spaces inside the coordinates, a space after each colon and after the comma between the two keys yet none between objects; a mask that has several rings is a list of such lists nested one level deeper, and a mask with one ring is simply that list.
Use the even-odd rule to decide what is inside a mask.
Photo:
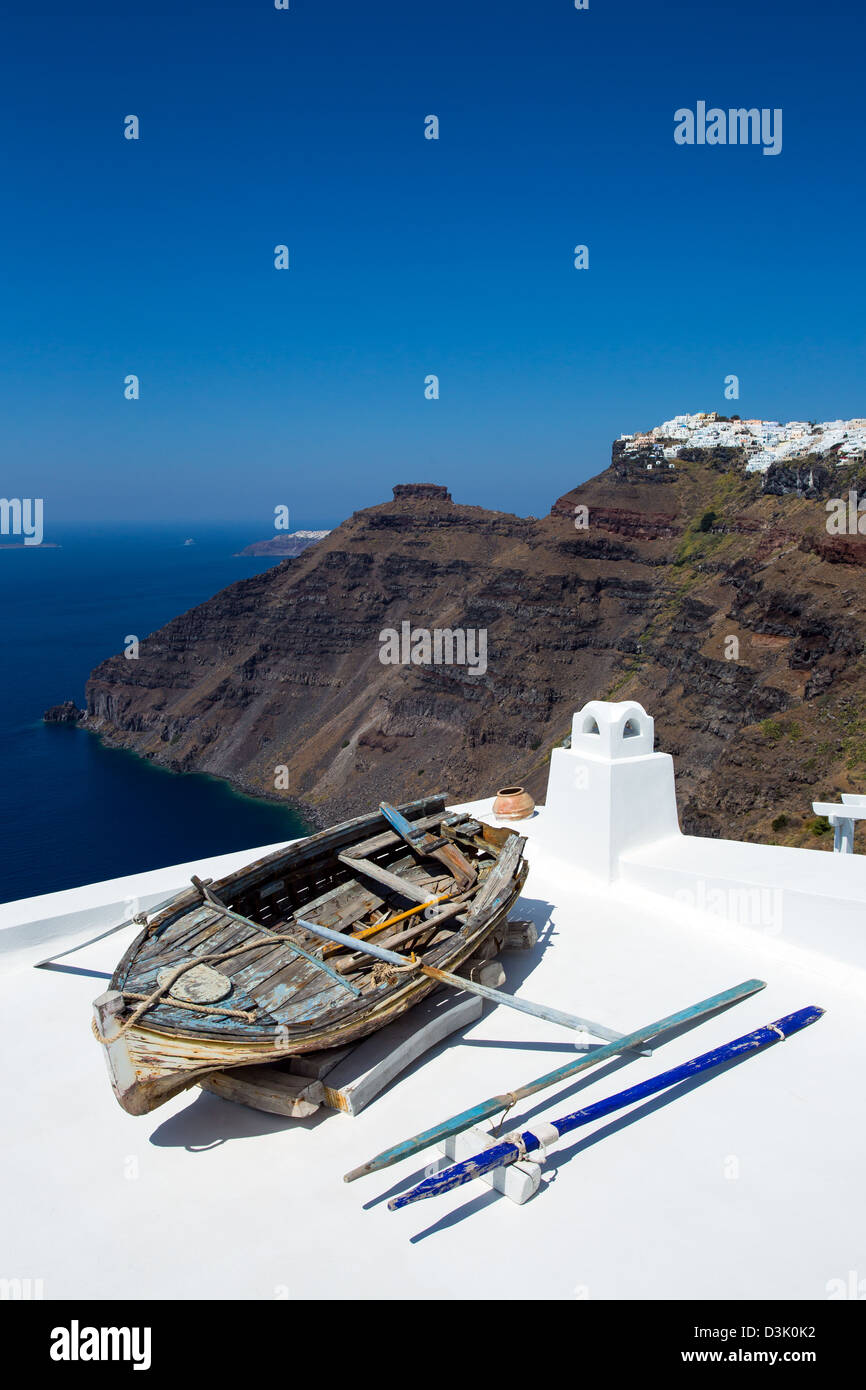
[{"label": "brown layered volcanic cliff face below the white village", "polygon": [[[827,535],[823,502],[858,480],[684,455],[614,445],[542,520],[398,486],[103,662],[85,724],[327,823],[435,790],[542,798],[571,713],[635,698],[684,828],[826,847],[812,799],[865,790],[866,546]],[[403,623],[484,630],[487,669],[382,664]]]}]

